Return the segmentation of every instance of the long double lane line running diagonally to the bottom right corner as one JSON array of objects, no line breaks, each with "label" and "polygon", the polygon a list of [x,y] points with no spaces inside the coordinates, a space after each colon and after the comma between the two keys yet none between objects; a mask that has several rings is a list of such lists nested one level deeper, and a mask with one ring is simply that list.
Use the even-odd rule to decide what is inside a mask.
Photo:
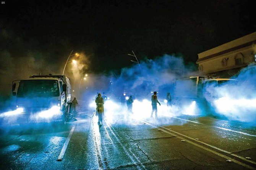
[{"label": "long double lane line running diagonally to the bottom right corner", "polygon": [[[149,123],[149,122],[147,122],[147,121],[146,121],[146,124],[149,125],[149,126],[155,127],[155,128],[161,127],[161,126],[155,126],[154,124]],[[166,129],[166,128],[164,128],[164,129]],[[168,131],[166,131],[166,130],[163,130],[163,129],[161,129],[161,130],[162,130],[163,132],[165,132],[165,133],[170,134],[170,135],[174,135],[173,133],[170,133],[170,132],[168,132]],[[169,130],[169,129],[168,129],[168,130]],[[171,131],[171,130],[170,130],[170,131]],[[213,153],[213,154],[216,154],[217,156],[223,157],[223,158],[228,159],[228,160],[232,160],[232,162],[235,162],[235,163],[238,164],[238,165],[241,165],[241,166],[246,167],[246,168],[248,168],[248,169],[253,169],[253,170],[255,170],[254,167],[251,167],[250,165],[246,165],[246,164],[244,164],[244,163],[242,163],[242,162],[240,162],[240,161],[238,161],[238,160],[232,159],[231,157],[225,156],[225,155],[220,154],[220,153],[218,153],[218,152],[216,152],[216,151],[213,151],[213,150],[211,150],[211,149],[208,149],[208,148],[206,148],[206,147],[204,147],[204,146],[198,145],[197,143],[194,143],[194,142],[192,142],[192,141],[190,141],[190,140],[187,140],[187,139],[185,139],[185,138],[183,138],[183,137],[180,137],[180,136],[176,136],[176,137],[179,138],[179,139],[181,139],[181,140],[185,140],[185,141],[187,141],[188,143],[190,143],[190,144],[192,144],[192,145],[194,145],[194,146],[197,146],[197,147],[199,147],[199,148],[201,148],[201,149],[204,149],[204,150],[206,150],[206,151],[208,151],[208,152],[211,152],[211,153]]]}]

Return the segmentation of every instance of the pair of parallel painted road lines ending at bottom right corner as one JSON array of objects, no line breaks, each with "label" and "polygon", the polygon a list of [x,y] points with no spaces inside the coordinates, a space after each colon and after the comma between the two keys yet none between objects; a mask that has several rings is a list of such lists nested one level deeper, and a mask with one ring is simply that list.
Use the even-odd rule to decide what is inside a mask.
[{"label": "pair of parallel painted road lines ending at bottom right corner", "polygon": [[[152,124],[152,123],[150,123],[150,122],[147,122],[147,121],[146,121],[146,124],[148,124],[149,126],[155,127],[155,128],[162,127],[162,126],[154,125],[154,124]],[[162,128],[167,129],[167,128],[165,128],[165,127],[162,127]],[[184,137],[187,137],[186,135],[183,135],[183,134],[181,134],[181,133],[175,132],[175,131],[173,131],[173,130],[169,130],[169,129],[167,129],[168,131],[163,130],[163,129],[161,129],[161,130],[162,130],[163,132],[165,132],[165,133],[170,134],[170,135],[175,135],[175,134],[170,133],[170,132],[168,132],[168,131],[171,131],[171,132],[177,133],[177,134],[179,134],[179,135],[182,135],[182,136],[184,136]],[[220,153],[218,153],[218,152],[216,152],[216,151],[213,151],[213,150],[211,150],[211,149],[208,149],[208,148],[206,148],[206,147],[204,147],[204,146],[198,145],[197,143],[194,143],[194,142],[192,142],[192,141],[190,141],[190,140],[186,140],[186,139],[183,138],[183,137],[180,137],[180,136],[176,136],[176,137],[179,138],[179,139],[181,139],[181,140],[185,140],[185,141],[187,141],[188,143],[191,143],[191,144],[194,145],[194,146],[197,146],[197,147],[202,148],[202,149],[204,149],[204,150],[206,150],[206,151],[209,151],[209,152],[211,152],[211,153],[213,153],[213,154],[216,154],[216,155],[218,155],[218,156],[220,156],[220,157],[223,157],[223,158],[228,159],[228,160],[232,160],[232,161],[235,162],[236,164],[239,164],[239,165],[241,165],[241,166],[243,166],[243,167],[246,167],[246,168],[248,168],[248,169],[255,169],[255,168],[251,167],[250,165],[246,165],[246,164],[244,164],[244,163],[242,163],[242,162],[240,162],[240,161],[238,161],[238,160],[232,159],[232,158],[230,158],[230,157],[228,157],[228,156],[225,156],[225,155],[223,155],[223,154],[220,154]],[[190,138],[190,137],[187,137],[187,138]],[[190,138],[190,139],[193,139],[193,138]],[[193,140],[194,140],[194,139],[193,139]],[[195,140],[195,141],[201,142],[201,141],[198,141],[198,140]],[[203,143],[203,142],[201,142],[201,143]],[[207,143],[203,143],[203,144],[207,144]],[[209,144],[207,144],[207,146],[210,146],[210,147],[211,147],[211,145],[209,145]],[[212,146],[212,148],[215,148],[215,149],[216,149],[217,147]],[[224,151],[224,150],[219,149],[219,148],[218,148],[217,150]],[[230,153],[230,152],[225,151],[225,153]],[[234,156],[234,155],[235,155],[235,154],[232,154],[232,156]],[[240,158],[240,157],[238,157],[238,158]],[[246,160],[246,159],[245,159],[245,160]],[[249,161],[248,161],[248,162],[249,162]],[[251,163],[252,163],[252,162],[251,162]]]}]

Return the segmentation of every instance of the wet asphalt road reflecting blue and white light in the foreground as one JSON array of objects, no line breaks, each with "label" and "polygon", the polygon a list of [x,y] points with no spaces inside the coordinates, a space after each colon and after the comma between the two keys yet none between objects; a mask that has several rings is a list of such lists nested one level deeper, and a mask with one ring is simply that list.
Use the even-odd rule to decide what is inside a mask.
[{"label": "wet asphalt road reflecting blue and white light in the foreground", "polygon": [[127,122],[116,115],[99,128],[92,115],[80,107],[78,121],[65,127],[5,127],[0,169],[256,168],[256,127],[246,123],[198,116]]}]

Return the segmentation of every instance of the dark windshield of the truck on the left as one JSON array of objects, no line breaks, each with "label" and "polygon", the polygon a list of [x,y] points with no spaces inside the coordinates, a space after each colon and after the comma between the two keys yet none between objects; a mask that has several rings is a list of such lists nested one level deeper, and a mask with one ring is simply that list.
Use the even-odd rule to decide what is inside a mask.
[{"label": "dark windshield of the truck on the left", "polygon": [[19,83],[18,97],[57,97],[60,95],[57,80],[23,80]]}]

